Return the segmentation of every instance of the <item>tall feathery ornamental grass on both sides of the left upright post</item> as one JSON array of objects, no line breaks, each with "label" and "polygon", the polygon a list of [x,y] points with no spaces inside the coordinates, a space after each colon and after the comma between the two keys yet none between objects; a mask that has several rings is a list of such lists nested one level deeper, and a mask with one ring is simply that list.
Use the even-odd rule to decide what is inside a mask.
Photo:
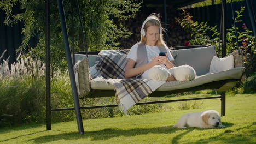
[{"label": "tall feathery ornamental grass on both sides of the left upright post", "polygon": [[[20,123],[45,122],[45,64],[19,55],[9,64],[0,57],[0,127]],[[51,106],[72,107],[73,99],[67,71],[56,72],[51,79]],[[70,121],[73,111],[53,113],[52,121]]]}]

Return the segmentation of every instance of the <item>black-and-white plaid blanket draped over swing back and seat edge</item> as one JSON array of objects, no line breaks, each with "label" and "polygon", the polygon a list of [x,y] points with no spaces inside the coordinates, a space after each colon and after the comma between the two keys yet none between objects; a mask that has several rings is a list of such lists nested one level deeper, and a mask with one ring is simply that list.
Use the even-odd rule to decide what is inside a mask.
[{"label": "black-and-white plaid blanket draped over swing back and seat edge", "polygon": [[114,85],[119,108],[126,115],[131,106],[166,82],[151,79],[124,79],[128,52],[129,50],[103,50],[98,53],[94,67],[89,69],[93,79],[101,78]]}]

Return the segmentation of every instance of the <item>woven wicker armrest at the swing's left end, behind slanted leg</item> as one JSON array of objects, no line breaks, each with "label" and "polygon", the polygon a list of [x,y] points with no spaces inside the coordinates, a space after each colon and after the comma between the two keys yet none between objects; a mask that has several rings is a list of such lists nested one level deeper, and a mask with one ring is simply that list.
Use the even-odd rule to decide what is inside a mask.
[{"label": "woven wicker armrest at the swing's left end, behind slanted leg", "polygon": [[78,81],[79,81],[79,98],[85,97],[91,91],[90,81],[92,80],[89,73],[88,58],[84,58],[79,64]]}]

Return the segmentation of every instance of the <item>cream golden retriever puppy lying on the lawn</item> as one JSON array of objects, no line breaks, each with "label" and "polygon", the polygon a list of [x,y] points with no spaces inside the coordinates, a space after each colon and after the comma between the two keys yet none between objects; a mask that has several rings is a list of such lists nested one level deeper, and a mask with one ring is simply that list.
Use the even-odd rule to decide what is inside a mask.
[{"label": "cream golden retriever puppy lying on the lawn", "polygon": [[173,127],[214,128],[222,127],[222,122],[220,121],[219,112],[217,112],[216,110],[207,110],[203,112],[185,114],[181,116],[181,118],[179,118],[179,121],[175,125],[173,125]]}]

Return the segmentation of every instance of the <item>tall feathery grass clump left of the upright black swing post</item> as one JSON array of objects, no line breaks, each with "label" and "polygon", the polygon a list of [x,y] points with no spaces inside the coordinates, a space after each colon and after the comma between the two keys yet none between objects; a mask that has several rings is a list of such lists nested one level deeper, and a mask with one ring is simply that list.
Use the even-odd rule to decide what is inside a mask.
[{"label": "tall feathery grass clump left of the upright black swing post", "polygon": [[[3,60],[4,53],[0,57]],[[45,65],[21,55],[9,64],[8,59],[0,64],[0,125],[5,125],[5,115],[12,116],[8,123],[42,122],[44,112]]]}]

